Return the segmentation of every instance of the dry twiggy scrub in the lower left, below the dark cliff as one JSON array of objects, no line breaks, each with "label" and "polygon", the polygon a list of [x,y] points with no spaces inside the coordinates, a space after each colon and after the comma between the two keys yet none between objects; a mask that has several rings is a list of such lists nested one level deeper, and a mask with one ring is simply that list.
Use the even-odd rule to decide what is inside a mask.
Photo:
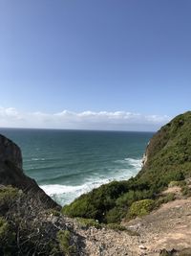
[{"label": "dry twiggy scrub in the lower left, below the dark cliff", "polygon": [[62,215],[44,209],[32,192],[0,186],[0,255],[70,255],[77,239]]}]

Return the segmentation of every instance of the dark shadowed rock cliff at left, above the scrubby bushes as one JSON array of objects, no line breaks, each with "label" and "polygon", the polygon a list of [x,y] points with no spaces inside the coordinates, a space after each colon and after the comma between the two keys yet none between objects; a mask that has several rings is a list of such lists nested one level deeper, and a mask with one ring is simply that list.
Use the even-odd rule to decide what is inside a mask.
[{"label": "dark shadowed rock cliff at left, above the scrubby bushes", "polygon": [[39,188],[34,179],[24,174],[19,147],[3,135],[0,135],[0,184],[11,185],[33,193],[35,197],[40,198],[44,207],[58,206]]}]

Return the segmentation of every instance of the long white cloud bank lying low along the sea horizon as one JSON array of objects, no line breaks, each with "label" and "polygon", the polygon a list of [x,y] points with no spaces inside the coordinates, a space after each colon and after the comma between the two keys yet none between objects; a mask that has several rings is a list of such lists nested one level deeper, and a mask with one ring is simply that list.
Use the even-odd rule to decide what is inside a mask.
[{"label": "long white cloud bank lying low along the sea horizon", "polygon": [[125,111],[63,110],[58,113],[19,112],[0,107],[1,128],[84,128],[118,130],[156,130],[170,120],[168,116],[142,115]]}]

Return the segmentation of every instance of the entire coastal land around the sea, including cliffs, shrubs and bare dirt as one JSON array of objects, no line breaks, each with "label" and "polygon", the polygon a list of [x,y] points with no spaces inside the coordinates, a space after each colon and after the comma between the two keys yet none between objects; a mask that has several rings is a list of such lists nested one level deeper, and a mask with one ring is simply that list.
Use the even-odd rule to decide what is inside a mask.
[{"label": "entire coastal land around the sea, including cliffs, shrubs and bare dirt", "polygon": [[102,185],[61,213],[0,135],[0,255],[191,255],[190,157],[186,112],[153,136],[136,177]]}]

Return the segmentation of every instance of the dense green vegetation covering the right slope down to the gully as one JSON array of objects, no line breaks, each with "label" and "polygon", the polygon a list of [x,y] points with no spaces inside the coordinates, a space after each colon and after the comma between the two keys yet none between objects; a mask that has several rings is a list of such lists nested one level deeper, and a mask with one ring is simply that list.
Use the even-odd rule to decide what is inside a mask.
[{"label": "dense green vegetation covering the right slope down to the gully", "polygon": [[[135,206],[140,206],[140,202],[135,204],[136,201],[155,200],[159,205],[162,200],[173,199],[172,195],[161,198],[159,194],[170,182],[178,184],[177,181],[181,181],[182,186],[184,178],[191,176],[190,130],[191,112],[176,117],[151,139],[146,151],[148,160],[136,177],[102,185],[64,206],[62,213],[70,217],[117,223],[126,216],[133,218],[149,211],[150,208],[141,207],[137,208],[138,213],[133,211]],[[188,186],[184,186],[182,191],[190,193]]]}]

